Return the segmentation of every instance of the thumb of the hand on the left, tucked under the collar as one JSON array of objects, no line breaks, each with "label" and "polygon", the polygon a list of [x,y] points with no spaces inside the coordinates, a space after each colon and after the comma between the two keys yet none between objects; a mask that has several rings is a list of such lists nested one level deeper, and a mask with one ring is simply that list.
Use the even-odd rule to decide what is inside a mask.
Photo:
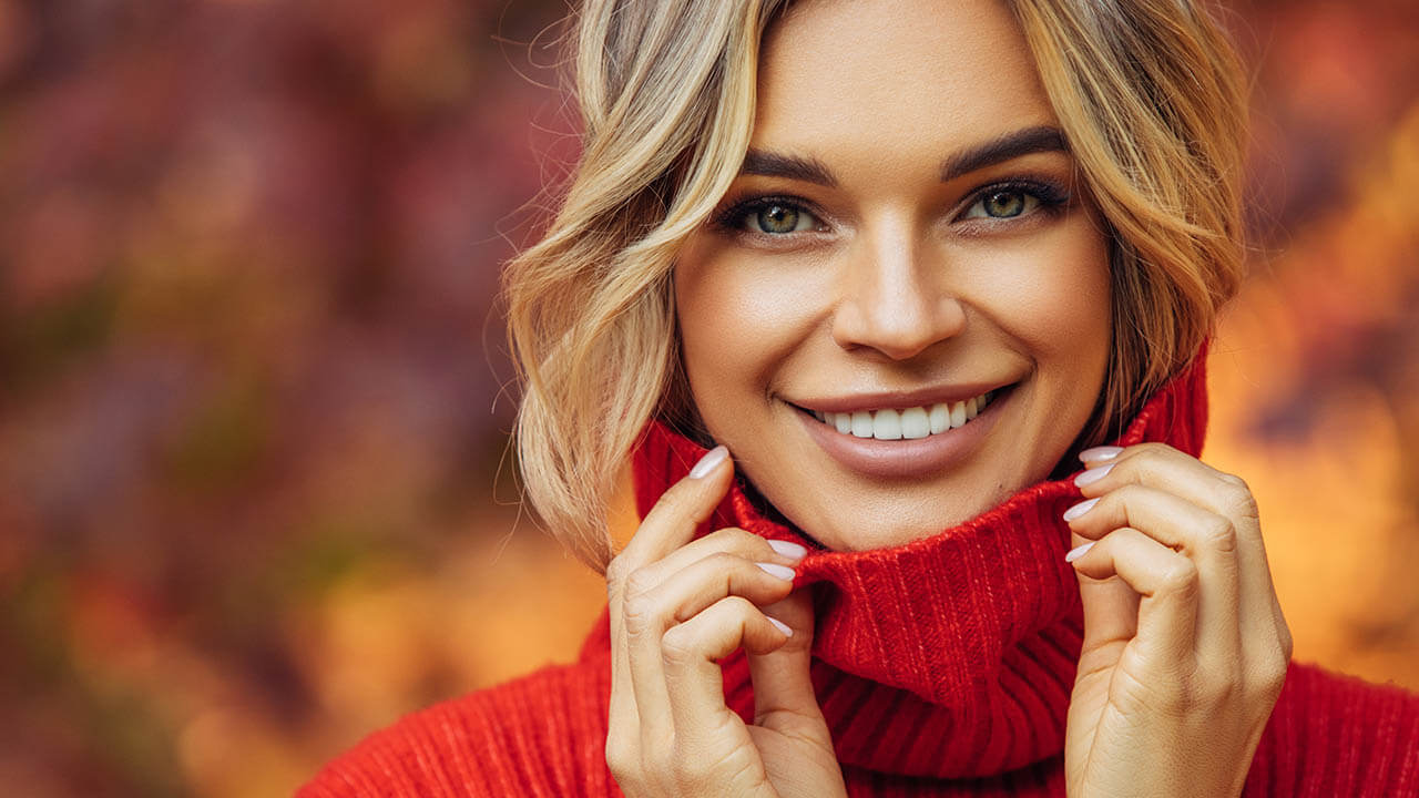
[{"label": "thumb of the hand on the left, tucked under the collar", "polygon": [[812,738],[832,750],[827,721],[817,706],[809,663],[813,650],[813,594],[797,589],[763,608],[765,615],[786,623],[793,635],[778,649],[749,655],[753,682],[753,724]]}]

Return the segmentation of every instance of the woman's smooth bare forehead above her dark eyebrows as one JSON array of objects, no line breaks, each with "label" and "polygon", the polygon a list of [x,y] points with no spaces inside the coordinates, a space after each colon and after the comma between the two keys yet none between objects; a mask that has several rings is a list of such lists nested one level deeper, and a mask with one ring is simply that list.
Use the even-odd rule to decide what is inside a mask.
[{"label": "woman's smooth bare forehead above her dark eyebrows", "polygon": [[[1025,35],[998,0],[807,0],[765,37],[752,146],[939,160],[1053,125]],[[864,163],[871,166],[871,163]]]}]

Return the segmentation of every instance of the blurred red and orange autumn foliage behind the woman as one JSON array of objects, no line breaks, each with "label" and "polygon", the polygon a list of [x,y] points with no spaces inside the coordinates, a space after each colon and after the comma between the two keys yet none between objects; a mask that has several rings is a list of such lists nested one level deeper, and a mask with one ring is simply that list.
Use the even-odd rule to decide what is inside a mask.
[{"label": "blurred red and orange autumn foliage behind the woman", "polygon": [[[288,794],[570,659],[499,264],[562,0],[0,0],[0,792]],[[1208,459],[1298,659],[1419,689],[1419,6],[1239,1],[1254,275]]]}]

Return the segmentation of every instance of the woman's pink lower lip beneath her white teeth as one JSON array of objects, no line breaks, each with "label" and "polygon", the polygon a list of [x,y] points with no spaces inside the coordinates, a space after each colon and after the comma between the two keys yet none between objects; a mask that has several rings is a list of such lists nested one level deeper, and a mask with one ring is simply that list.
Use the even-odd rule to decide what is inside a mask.
[{"label": "woman's pink lower lip beneath her white teeth", "polygon": [[1013,390],[999,390],[985,410],[964,426],[914,440],[877,440],[837,432],[795,409],[803,427],[823,452],[850,471],[877,479],[912,479],[944,471],[965,460],[995,426],[999,409]]}]

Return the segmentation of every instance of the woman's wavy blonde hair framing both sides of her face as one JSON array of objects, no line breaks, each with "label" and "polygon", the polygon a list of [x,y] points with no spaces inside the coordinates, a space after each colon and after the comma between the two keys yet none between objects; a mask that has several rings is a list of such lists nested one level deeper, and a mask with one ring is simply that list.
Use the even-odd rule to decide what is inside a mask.
[{"label": "woman's wavy blonde hair framing both sides of her face", "polygon": [[[595,568],[646,423],[683,400],[681,243],[738,173],[759,43],[788,0],[587,0],[576,18],[582,156],[541,241],[505,270],[534,507]],[[1112,362],[1081,442],[1185,366],[1243,271],[1243,72],[1186,0],[1013,0],[1112,234]]]}]

